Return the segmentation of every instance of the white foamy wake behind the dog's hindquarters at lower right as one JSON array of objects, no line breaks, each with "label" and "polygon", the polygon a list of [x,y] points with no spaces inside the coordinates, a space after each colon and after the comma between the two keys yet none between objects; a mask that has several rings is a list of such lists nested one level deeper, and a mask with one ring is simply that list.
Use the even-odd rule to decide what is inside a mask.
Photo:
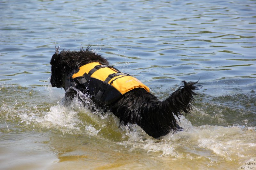
[{"label": "white foamy wake behind the dog's hindquarters at lower right", "polygon": [[[195,158],[216,154],[219,157],[231,161],[244,158],[248,150],[256,151],[256,131],[254,127],[234,126],[210,126],[203,125],[193,127],[184,116],[180,118],[184,131],[169,133],[160,140],[148,137],[145,132],[140,131],[137,125],[123,127],[128,136],[127,141],[118,144],[130,148],[130,151],[138,149],[146,150],[148,153],[161,153],[162,156],[169,155],[175,158]],[[255,154],[255,152],[254,152]]]}]

